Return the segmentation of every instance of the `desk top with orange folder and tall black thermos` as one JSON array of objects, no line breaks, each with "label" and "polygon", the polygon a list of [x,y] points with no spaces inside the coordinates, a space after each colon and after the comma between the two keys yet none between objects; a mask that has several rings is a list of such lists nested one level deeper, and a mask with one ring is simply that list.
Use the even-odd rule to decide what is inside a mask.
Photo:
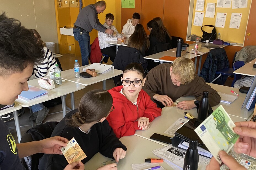
[{"label": "desk top with orange folder and tall black thermos", "polygon": [[[148,55],[144,58],[150,59],[150,60],[157,60],[157,61],[160,61],[160,62],[173,63],[173,61],[170,61],[170,60],[159,59],[159,58],[164,57],[164,56],[176,57],[176,52],[174,52],[174,51],[162,51],[162,52],[159,52],[159,53],[156,53],[156,54]],[[186,57],[186,58],[192,59],[192,58],[195,58],[197,56],[198,56],[197,54],[186,53],[185,55],[182,55],[181,57]]]}]

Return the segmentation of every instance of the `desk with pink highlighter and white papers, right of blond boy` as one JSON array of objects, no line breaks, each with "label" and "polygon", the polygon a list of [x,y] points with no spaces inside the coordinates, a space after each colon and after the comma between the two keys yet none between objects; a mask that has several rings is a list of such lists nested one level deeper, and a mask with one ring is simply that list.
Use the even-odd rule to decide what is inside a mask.
[{"label": "desk with pink highlighter and white papers, right of blond boy", "polygon": [[[233,90],[234,92],[239,94],[239,97],[231,104],[225,104],[225,103],[220,102],[220,104],[213,106],[212,110],[215,110],[217,107],[222,105],[229,115],[236,116],[238,118],[242,118],[247,121],[249,121],[252,118],[253,111],[254,111],[253,109],[251,109],[250,111],[248,111],[248,109],[245,107],[241,109],[242,104],[244,103],[244,99],[246,97],[245,93],[240,93],[238,88],[227,87],[227,86],[222,86],[222,85],[213,84],[213,83],[207,83],[207,84],[209,84],[217,92],[233,94],[230,92],[231,90]],[[176,101],[181,102],[181,101],[193,100],[193,99],[195,99],[194,96],[187,96],[187,97],[180,97]]]}]

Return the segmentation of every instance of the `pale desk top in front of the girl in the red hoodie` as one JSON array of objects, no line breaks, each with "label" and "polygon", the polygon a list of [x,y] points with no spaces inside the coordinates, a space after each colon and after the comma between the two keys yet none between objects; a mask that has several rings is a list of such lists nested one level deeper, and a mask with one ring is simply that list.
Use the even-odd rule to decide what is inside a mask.
[{"label": "pale desk top in front of the girl in the red hoodie", "polygon": [[[142,138],[146,138],[148,140],[154,141],[161,145],[167,146],[168,144],[162,143],[159,141],[155,141],[150,139],[150,136],[154,133],[158,133],[161,135],[173,137],[167,133],[164,133],[178,118],[184,118],[186,116],[184,112],[190,113],[194,118],[197,118],[197,110],[196,108],[190,110],[182,110],[177,107],[164,107],[162,108],[162,115],[155,118],[152,122],[150,122],[150,128],[148,130],[136,130],[135,135],[140,136]],[[245,119],[238,118],[236,116],[230,115],[231,119],[234,122],[246,121]]]}]

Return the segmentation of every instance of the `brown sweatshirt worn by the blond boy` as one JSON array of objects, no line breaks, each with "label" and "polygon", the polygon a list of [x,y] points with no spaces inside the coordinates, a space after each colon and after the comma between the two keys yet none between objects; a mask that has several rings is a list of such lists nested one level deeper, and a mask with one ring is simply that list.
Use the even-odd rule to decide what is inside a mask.
[{"label": "brown sweatshirt worn by the blond boy", "polygon": [[172,64],[160,64],[148,72],[145,85],[142,89],[148,93],[151,100],[154,101],[154,94],[167,95],[172,101],[185,96],[195,96],[197,100],[201,100],[202,93],[206,90],[209,91],[208,98],[211,106],[220,103],[220,96],[217,91],[212,89],[205,83],[202,77],[196,74],[191,83],[186,85],[181,84],[179,87],[174,85],[170,76],[171,66]]}]

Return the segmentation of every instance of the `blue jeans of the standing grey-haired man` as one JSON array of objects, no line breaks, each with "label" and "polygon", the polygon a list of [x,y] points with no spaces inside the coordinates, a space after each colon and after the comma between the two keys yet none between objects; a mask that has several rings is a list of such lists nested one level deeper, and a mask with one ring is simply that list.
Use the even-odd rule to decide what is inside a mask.
[{"label": "blue jeans of the standing grey-haired man", "polygon": [[89,64],[89,53],[91,52],[90,46],[90,35],[86,30],[82,31],[82,35],[80,35],[80,29],[73,29],[74,38],[78,41],[80,46],[80,51],[82,55],[82,66]]}]

